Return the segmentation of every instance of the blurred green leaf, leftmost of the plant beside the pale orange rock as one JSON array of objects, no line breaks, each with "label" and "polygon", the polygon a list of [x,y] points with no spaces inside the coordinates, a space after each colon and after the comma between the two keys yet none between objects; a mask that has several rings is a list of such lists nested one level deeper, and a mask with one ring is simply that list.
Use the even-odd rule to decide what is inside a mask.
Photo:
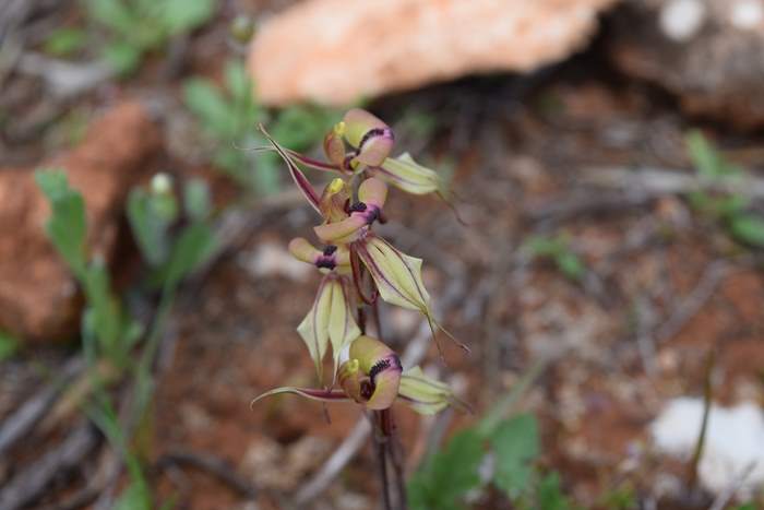
[{"label": "blurred green leaf, leftmost of the plant beside the pale orange rock", "polygon": [[186,106],[199,118],[211,135],[234,142],[237,138],[237,112],[207,80],[190,79],[183,84]]}]

